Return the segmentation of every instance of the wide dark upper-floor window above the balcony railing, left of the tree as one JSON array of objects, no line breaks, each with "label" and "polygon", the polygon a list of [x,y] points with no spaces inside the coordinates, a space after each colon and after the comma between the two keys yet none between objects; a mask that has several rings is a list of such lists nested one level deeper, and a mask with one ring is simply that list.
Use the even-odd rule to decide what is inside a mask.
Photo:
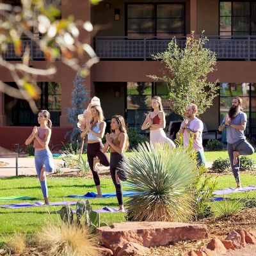
[{"label": "wide dark upper-floor window above the balcony railing, left of the tree", "polygon": [[129,37],[185,35],[185,4],[127,4],[126,29]]}]

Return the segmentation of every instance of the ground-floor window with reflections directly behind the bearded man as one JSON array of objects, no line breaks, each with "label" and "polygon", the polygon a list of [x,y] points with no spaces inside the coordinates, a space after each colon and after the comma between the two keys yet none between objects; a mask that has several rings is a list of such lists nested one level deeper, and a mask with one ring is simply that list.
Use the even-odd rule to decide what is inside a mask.
[{"label": "ground-floor window with reflections directly behind the bearded man", "polygon": [[220,84],[220,123],[232,106],[233,97],[243,99],[243,111],[247,115],[246,136],[256,135],[256,84],[221,83]]}]

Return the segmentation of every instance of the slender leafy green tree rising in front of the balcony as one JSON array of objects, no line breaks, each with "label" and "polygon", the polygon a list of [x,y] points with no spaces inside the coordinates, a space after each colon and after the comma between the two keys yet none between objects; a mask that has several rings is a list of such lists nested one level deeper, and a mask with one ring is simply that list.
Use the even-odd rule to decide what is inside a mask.
[{"label": "slender leafy green tree rising in front of the balcony", "polygon": [[207,41],[203,35],[196,39],[192,32],[184,49],[173,38],[167,51],[154,56],[154,60],[162,61],[165,68],[161,70],[163,76],[149,77],[168,84],[171,109],[181,116],[189,103],[198,106],[199,115],[204,113],[218,95],[217,81],[207,82],[207,75],[216,70],[216,53],[205,47]]}]

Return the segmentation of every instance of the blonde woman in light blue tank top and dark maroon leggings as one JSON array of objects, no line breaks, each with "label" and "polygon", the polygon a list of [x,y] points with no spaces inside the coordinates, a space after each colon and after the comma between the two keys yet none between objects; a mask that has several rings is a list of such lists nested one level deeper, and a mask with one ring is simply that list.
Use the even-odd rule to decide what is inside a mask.
[{"label": "blonde woman in light blue tank top and dark maroon leggings", "polygon": [[97,170],[95,169],[95,164],[99,159],[100,164],[109,166],[109,158],[104,152],[102,152],[103,145],[101,141],[105,133],[106,122],[103,121],[104,116],[100,106],[92,106],[91,112],[92,120],[90,123],[86,124],[86,129],[81,133],[81,138],[84,138],[84,136],[88,134],[87,159],[97,188],[97,197],[100,197],[102,196],[100,178]]}]

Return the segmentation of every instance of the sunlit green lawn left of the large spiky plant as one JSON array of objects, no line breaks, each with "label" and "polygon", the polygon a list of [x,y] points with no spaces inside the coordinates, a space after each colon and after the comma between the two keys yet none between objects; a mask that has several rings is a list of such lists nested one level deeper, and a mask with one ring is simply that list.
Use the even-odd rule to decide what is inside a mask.
[{"label": "sunlit green lawn left of the large spiky plant", "polygon": [[[88,191],[96,192],[96,188],[92,179],[83,178],[47,178],[49,196],[52,202],[57,201],[77,201],[79,198],[67,198],[67,195],[84,195]],[[101,179],[102,192],[108,193],[115,191],[115,186],[111,179]],[[36,177],[10,177],[0,179],[0,196],[24,195],[34,196],[34,200],[26,200],[33,203],[42,201],[42,192],[40,184]],[[124,197],[124,200],[127,198]],[[2,201],[0,204],[17,204],[24,201],[12,200]],[[124,201],[125,202],[125,201]],[[118,207],[116,198],[99,198],[90,200],[93,209],[100,209],[105,206]],[[75,209],[75,205],[72,206]],[[8,235],[14,232],[27,232],[28,234],[35,232],[44,226],[45,221],[60,220],[56,211],[61,206],[44,206],[44,207],[28,207],[20,209],[4,209],[0,208],[0,234]],[[101,221],[106,223],[124,221],[124,213],[116,214],[100,214]],[[4,237],[0,236],[0,243]]]}]

